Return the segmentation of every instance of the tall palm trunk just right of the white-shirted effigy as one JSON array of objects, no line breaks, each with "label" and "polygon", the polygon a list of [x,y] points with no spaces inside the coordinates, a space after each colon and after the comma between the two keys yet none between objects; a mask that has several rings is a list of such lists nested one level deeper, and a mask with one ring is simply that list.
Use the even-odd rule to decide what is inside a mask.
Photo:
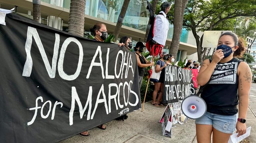
[{"label": "tall palm trunk just right of the white-shirted effigy", "polygon": [[174,18],[173,18],[173,36],[169,54],[177,59],[177,53],[180,45],[180,35],[182,31],[183,15],[188,0],[175,0],[174,2]]}]

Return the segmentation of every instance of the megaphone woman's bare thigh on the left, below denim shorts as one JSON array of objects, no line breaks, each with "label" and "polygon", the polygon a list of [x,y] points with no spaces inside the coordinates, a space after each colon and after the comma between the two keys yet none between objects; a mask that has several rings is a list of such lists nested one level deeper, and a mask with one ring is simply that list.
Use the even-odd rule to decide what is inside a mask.
[{"label": "megaphone woman's bare thigh on the left, below denim shorts", "polygon": [[196,124],[197,143],[211,143],[212,125]]}]

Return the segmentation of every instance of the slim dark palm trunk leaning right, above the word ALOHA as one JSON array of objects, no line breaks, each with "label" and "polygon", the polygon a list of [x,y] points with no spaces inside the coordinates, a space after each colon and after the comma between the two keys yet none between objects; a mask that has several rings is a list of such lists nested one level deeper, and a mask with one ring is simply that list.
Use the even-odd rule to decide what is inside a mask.
[{"label": "slim dark palm trunk leaning right, above the word ALOHA", "polygon": [[124,0],[124,3],[123,3],[123,6],[122,6],[122,9],[121,9],[121,12],[119,14],[119,17],[118,17],[118,20],[117,20],[117,23],[116,23],[116,27],[115,27],[115,32],[114,32],[115,41],[117,40],[118,35],[120,33],[120,30],[121,30],[121,27],[123,25],[124,16],[125,16],[125,13],[127,11],[129,3],[130,3],[130,0]]}]

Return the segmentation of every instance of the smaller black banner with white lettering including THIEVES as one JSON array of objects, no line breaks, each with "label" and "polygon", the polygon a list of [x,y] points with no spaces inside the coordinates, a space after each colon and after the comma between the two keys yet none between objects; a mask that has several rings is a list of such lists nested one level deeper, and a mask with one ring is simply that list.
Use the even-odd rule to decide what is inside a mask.
[{"label": "smaller black banner with white lettering including THIEVES", "polygon": [[163,103],[174,103],[189,95],[196,95],[192,82],[192,71],[177,66],[166,66],[164,77]]}]

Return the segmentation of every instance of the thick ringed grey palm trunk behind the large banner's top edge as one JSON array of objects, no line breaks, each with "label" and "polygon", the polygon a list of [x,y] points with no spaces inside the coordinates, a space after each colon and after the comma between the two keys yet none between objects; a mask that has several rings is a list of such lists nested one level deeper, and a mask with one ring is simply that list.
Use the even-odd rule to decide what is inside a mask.
[{"label": "thick ringed grey palm trunk behind the large banner's top edge", "polygon": [[86,0],[71,0],[68,33],[84,36],[84,15]]}]

